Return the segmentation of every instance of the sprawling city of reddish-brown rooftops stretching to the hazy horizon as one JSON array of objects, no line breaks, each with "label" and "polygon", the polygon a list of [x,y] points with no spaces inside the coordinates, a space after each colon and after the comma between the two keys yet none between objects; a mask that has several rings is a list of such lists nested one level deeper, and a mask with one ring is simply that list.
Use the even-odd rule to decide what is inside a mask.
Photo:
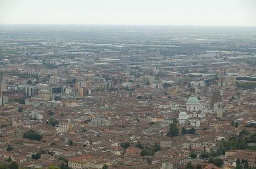
[{"label": "sprawling city of reddish-brown rooftops stretching to the hazy horizon", "polygon": [[168,29],[1,28],[0,168],[255,168],[255,35]]}]

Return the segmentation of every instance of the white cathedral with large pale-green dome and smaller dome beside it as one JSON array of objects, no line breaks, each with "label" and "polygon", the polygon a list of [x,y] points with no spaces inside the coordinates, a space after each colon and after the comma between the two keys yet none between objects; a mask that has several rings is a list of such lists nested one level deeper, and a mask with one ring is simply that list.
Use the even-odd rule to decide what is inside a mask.
[{"label": "white cathedral with large pale-green dome and smaller dome beside it", "polygon": [[186,110],[179,113],[179,124],[190,124],[199,127],[200,119],[205,117],[204,106],[196,96],[191,96],[186,103]]}]

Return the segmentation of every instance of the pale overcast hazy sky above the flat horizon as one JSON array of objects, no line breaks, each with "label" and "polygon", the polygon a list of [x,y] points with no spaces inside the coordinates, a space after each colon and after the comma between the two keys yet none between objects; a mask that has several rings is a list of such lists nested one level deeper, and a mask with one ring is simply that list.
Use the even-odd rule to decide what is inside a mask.
[{"label": "pale overcast hazy sky above the flat horizon", "polygon": [[0,0],[0,23],[256,26],[256,0]]}]

